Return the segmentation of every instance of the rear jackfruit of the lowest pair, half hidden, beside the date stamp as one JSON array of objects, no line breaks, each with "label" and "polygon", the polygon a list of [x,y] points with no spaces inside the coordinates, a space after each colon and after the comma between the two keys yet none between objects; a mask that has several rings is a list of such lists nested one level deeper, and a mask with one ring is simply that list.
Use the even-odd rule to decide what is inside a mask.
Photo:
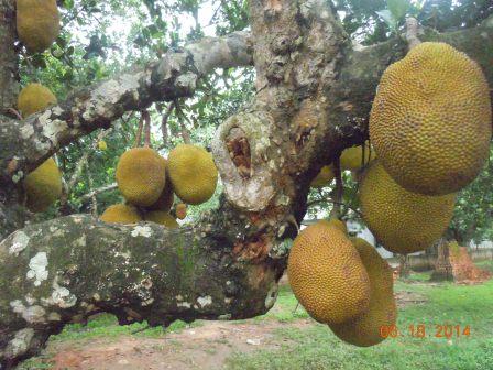
[{"label": "rear jackfruit of the lowest pair, half hidden, beside the date stamp", "polygon": [[370,306],[361,316],[330,328],[351,345],[369,347],[383,341],[381,328],[395,325],[397,318],[393,273],[388,263],[364,239],[354,238],[352,242],[370,278]]}]

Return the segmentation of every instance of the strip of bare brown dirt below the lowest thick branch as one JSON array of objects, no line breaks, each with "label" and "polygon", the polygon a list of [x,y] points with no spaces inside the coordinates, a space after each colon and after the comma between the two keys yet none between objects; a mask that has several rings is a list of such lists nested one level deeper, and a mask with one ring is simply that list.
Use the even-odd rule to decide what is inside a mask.
[{"label": "strip of bare brown dirt below the lowest thick branch", "polygon": [[313,322],[308,319],[288,324],[276,320],[242,324],[205,322],[202,326],[160,339],[123,336],[114,341],[52,342],[47,353],[53,353],[50,361],[56,370],[219,370],[234,352],[280,347],[282,340],[280,342],[278,337],[274,336],[276,328],[310,325]]}]

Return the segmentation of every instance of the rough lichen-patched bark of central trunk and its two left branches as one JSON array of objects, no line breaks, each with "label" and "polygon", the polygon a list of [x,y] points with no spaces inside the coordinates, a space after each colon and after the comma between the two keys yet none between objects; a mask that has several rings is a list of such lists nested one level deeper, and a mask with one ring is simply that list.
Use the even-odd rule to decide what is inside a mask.
[{"label": "rough lichen-patched bark of central trunk and its two left branches", "polygon": [[[250,14],[251,39],[237,33],[169,52],[25,121],[0,123],[0,184],[14,188],[62,145],[127,110],[189,96],[215,67],[251,64],[253,50],[255,99],[219,128],[213,143],[224,185],[217,211],[173,231],[70,216],[1,242],[0,363],[32,356],[64,324],[96,312],[114,313],[122,324],[167,325],[251,317],[272,306],[288,252],[284,239],[296,235],[310,179],[365,139],[379,78],[407,45],[354,48],[324,0],[252,0]],[[491,58],[483,56],[493,50],[492,24],[467,32],[478,41],[471,56],[491,81]]]}]

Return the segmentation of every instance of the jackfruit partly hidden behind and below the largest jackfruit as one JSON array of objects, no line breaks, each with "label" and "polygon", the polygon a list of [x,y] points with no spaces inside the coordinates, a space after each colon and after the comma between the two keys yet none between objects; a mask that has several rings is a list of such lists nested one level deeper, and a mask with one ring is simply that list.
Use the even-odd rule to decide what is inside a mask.
[{"label": "jackfruit partly hidden behind and below the largest jackfruit", "polygon": [[364,171],[359,198],[363,220],[386,250],[413,253],[441,237],[453,214],[456,194],[408,192],[386,173],[380,160]]}]

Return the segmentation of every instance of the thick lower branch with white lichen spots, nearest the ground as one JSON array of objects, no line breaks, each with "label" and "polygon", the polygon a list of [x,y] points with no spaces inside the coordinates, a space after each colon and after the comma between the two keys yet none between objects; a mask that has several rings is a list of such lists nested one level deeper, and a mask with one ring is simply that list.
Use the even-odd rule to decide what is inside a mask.
[{"label": "thick lower branch with white lichen spots, nearest the ground", "polygon": [[265,313],[283,266],[235,261],[234,240],[217,221],[166,230],[85,215],[14,232],[0,244],[0,368],[98,312],[152,326]]}]

